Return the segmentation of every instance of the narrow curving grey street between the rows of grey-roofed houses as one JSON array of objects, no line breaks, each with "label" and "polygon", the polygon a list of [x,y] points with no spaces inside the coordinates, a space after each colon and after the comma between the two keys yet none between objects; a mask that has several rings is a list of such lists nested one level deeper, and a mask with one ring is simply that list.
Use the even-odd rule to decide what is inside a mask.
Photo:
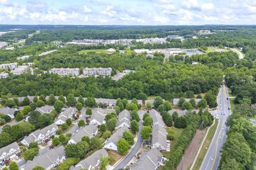
[{"label": "narrow curving grey street between the rows of grey-roofed houses", "polygon": [[113,170],[118,170],[118,169],[124,168],[134,158],[134,156],[137,154],[137,152],[140,150],[140,147],[143,142],[143,140],[141,139],[141,134],[140,134],[141,129],[142,129],[142,121],[140,120],[138,140],[135,143],[135,146],[132,148],[132,150],[129,152],[129,154],[126,155],[126,157],[115,166],[115,168]]}]

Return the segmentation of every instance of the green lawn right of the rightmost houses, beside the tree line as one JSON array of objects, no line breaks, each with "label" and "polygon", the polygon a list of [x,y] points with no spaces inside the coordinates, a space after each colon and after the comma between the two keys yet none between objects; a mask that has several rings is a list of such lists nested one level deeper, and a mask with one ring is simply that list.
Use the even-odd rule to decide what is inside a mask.
[{"label": "green lawn right of the rightmost houses, beside the tree line", "polygon": [[174,135],[174,140],[171,141],[171,145],[170,145],[170,152],[163,152],[164,157],[169,158],[170,155],[173,153],[174,151],[174,146],[177,142],[177,139],[179,138],[179,136],[181,135],[182,131],[184,129],[178,129],[178,128],[166,128],[167,133],[172,133]]}]

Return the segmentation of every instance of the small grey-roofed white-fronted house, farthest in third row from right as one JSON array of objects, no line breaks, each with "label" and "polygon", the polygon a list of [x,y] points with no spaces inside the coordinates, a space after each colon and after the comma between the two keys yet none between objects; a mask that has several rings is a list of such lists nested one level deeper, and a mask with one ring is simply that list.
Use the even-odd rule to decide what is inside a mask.
[{"label": "small grey-roofed white-fronted house, farthest in third row from right", "polygon": [[106,121],[104,119],[105,119],[106,114],[107,114],[107,112],[104,111],[102,108],[93,110],[90,124],[93,124],[95,126],[105,124]]}]

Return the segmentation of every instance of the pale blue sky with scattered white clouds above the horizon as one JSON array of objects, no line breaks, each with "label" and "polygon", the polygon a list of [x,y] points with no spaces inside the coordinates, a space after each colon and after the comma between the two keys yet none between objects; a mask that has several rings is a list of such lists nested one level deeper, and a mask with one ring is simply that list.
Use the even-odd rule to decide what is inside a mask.
[{"label": "pale blue sky with scattered white clouds above the horizon", "polygon": [[0,24],[256,24],[256,0],[0,0]]}]

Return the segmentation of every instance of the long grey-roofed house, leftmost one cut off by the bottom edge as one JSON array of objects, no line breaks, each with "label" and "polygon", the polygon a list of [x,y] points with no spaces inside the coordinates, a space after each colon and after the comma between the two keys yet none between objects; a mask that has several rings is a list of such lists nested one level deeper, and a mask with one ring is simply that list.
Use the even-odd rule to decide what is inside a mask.
[{"label": "long grey-roofed house, leftmost one cut off by the bottom edge", "polygon": [[20,169],[31,170],[35,166],[42,166],[45,170],[50,170],[62,163],[65,159],[64,147],[60,146],[58,148],[51,149],[43,155],[36,156],[33,160],[28,160],[28,162]]}]

